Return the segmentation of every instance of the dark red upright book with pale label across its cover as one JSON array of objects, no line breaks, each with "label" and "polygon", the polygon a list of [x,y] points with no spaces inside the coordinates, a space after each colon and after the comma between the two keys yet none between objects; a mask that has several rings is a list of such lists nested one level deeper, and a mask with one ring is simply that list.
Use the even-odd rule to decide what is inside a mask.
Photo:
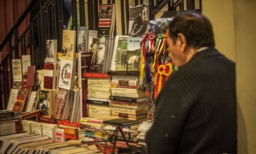
[{"label": "dark red upright book with pale label across its cover", "polygon": [[52,89],[53,88],[53,63],[45,63],[45,76],[44,76],[44,88]]}]

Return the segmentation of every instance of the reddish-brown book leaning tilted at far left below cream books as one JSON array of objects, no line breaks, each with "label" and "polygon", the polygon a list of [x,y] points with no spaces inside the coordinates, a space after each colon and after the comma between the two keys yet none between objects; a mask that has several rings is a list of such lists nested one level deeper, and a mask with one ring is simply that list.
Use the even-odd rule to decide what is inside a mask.
[{"label": "reddish-brown book leaning tilted at far left below cream books", "polygon": [[18,94],[17,94],[17,99],[15,100],[14,103],[14,111],[17,112],[22,112],[24,110],[24,107],[26,107],[27,99],[30,96],[31,92],[31,87],[25,87],[23,86]]}]

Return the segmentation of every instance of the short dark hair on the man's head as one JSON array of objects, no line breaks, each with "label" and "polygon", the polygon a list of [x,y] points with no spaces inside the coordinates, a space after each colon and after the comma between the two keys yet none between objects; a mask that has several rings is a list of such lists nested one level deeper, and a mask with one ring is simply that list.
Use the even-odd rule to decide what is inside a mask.
[{"label": "short dark hair on the man's head", "polygon": [[181,12],[169,24],[169,37],[176,43],[177,34],[186,36],[187,45],[192,48],[215,47],[213,28],[204,15],[189,10]]}]

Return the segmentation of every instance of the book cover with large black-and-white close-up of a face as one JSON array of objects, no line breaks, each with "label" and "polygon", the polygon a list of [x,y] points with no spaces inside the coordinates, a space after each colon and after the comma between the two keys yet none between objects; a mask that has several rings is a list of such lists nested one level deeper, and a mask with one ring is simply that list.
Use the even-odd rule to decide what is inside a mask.
[{"label": "book cover with large black-and-white close-up of a face", "polygon": [[102,73],[105,62],[106,38],[93,38],[93,42],[90,71]]}]

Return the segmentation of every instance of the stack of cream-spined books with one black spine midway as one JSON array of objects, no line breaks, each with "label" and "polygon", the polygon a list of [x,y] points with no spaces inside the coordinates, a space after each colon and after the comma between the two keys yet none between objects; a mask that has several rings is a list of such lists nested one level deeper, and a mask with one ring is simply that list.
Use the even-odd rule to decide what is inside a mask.
[{"label": "stack of cream-spined books with one black spine midway", "polygon": [[109,107],[110,79],[88,78],[87,84],[88,116],[111,115]]}]

